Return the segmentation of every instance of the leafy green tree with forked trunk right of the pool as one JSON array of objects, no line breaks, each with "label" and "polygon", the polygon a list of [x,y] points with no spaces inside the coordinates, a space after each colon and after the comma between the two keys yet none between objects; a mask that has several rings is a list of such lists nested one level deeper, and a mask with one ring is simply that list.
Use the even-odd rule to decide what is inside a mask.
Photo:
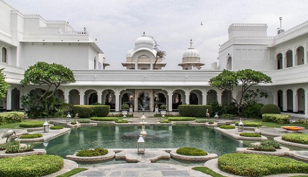
[{"label": "leafy green tree with forked trunk right of the pool", "polygon": [[[239,95],[238,99],[231,96],[231,99],[234,100],[237,106],[237,113],[239,115],[241,114],[240,109],[243,105],[244,98],[247,98],[247,96],[255,96],[255,92],[250,90],[251,86],[261,83],[272,83],[272,79],[265,73],[252,69],[243,69],[237,72],[224,69],[221,73],[219,73],[216,77],[211,78],[209,81],[211,86],[217,87],[219,90],[232,91],[234,87],[238,85],[241,86],[241,95]],[[250,96],[246,93],[250,94]],[[266,96],[264,92],[261,92],[260,94],[261,96]]]}]

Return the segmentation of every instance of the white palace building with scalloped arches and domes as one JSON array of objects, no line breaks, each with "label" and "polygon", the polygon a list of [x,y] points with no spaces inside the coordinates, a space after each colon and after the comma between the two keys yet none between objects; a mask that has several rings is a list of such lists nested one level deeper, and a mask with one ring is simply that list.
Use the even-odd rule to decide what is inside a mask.
[{"label": "white palace building with scalloped arches and domes", "polygon": [[[192,41],[179,60],[183,70],[162,70],[166,63],[161,59],[152,69],[156,50],[153,40],[143,34],[127,52],[126,60],[123,56],[122,70],[105,70],[109,64],[104,53],[86,30],[75,31],[67,21],[23,14],[3,0],[0,17],[0,68],[5,68],[6,81],[11,85],[0,101],[4,111],[22,109],[21,95],[45,89],[19,84],[30,65],[45,61],[73,70],[76,82],[62,84],[56,92],[73,105],[98,102],[119,112],[127,103],[134,112],[142,110],[140,105],[153,112],[156,105],[165,104],[169,112],[177,112],[181,104],[230,103],[230,94],[241,94],[239,88],[222,92],[211,87],[209,79],[223,69],[251,68],[266,73],[273,81],[254,87],[270,95],[261,103],[274,103],[284,112],[308,117],[308,21],[276,36],[267,36],[267,24],[233,23],[228,29],[229,40],[220,46],[211,69],[202,68],[200,53]],[[188,44],[188,40],[184,42]]]}]

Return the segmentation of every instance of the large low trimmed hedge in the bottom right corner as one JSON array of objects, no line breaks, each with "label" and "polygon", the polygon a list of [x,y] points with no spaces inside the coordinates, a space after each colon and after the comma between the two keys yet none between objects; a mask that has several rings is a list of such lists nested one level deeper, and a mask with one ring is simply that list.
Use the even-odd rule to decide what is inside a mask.
[{"label": "large low trimmed hedge in the bottom right corner", "polygon": [[218,168],[241,176],[308,173],[308,163],[306,162],[277,156],[242,153],[225,154],[218,157]]}]

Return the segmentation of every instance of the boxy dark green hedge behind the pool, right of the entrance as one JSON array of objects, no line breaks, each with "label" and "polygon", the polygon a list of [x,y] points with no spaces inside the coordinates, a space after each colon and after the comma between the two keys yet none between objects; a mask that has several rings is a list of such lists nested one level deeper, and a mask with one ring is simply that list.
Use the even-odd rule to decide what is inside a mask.
[{"label": "boxy dark green hedge behind the pool, right of the entrance", "polygon": [[206,117],[206,110],[209,109],[211,115],[213,107],[211,105],[180,105],[178,109],[183,117]]}]

